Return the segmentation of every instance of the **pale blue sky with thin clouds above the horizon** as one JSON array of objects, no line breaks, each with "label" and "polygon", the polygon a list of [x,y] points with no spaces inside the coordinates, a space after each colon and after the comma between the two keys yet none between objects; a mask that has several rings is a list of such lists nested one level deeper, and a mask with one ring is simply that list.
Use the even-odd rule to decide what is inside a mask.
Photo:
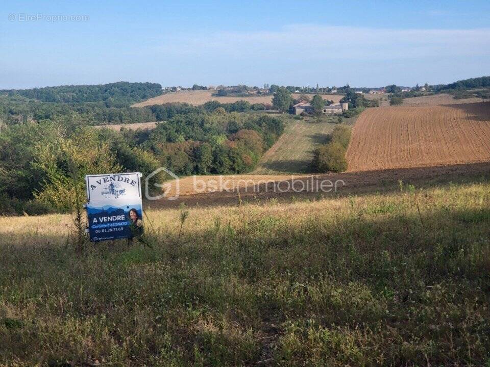
[{"label": "pale blue sky with thin clouds above the horizon", "polygon": [[490,2],[4,0],[0,55],[0,89],[450,83],[490,74]]}]

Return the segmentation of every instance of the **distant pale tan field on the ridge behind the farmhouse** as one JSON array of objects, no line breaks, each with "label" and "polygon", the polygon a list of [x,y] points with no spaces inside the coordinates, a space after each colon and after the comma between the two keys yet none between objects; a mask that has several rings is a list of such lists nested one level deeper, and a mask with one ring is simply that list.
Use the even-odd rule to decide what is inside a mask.
[{"label": "distant pale tan field on the ridge behind the farmhouse", "polygon": [[[182,91],[182,92],[171,92],[162,94],[158,97],[150,98],[143,102],[133,104],[133,107],[143,107],[143,106],[153,106],[153,104],[164,104],[164,103],[189,103],[194,106],[199,106],[200,104],[216,100],[220,103],[233,103],[238,100],[246,100],[250,103],[272,103],[272,96],[250,96],[250,97],[216,97],[212,94],[216,93],[214,90],[198,90],[198,91]],[[293,98],[298,98],[300,94],[293,93]],[[344,98],[342,95],[336,94],[324,94],[322,95],[324,99],[333,100],[334,102],[339,102],[340,99]]]}]

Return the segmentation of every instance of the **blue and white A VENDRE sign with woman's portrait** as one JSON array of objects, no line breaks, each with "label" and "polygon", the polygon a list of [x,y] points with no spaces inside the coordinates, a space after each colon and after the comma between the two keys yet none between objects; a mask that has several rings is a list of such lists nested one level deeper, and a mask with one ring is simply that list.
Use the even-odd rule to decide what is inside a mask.
[{"label": "blue and white A VENDRE sign with woman's portrait", "polygon": [[87,175],[90,241],[131,238],[132,223],[142,218],[141,173]]}]

